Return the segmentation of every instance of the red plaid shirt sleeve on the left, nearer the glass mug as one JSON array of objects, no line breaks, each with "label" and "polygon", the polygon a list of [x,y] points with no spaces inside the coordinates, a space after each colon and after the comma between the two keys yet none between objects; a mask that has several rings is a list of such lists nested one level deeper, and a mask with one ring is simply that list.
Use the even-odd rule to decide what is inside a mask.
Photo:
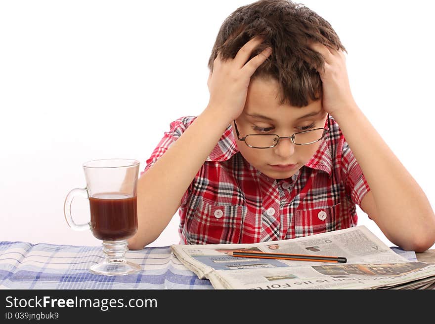
[{"label": "red plaid shirt sleeve on the left, nearer the glass mug", "polygon": [[[165,132],[163,138],[160,140],[160,143],[156,146],[156,148],[151,153],[151,156],[145,161],[146,166],[145,169],[140,173],[142,176],[145,172],[147,172],[156,161],[165,154],[165,152],[176,142],[176,140],[184,133],[184,131],[189,127],[189,125],[195,120],[196,117],[181,117],[170,124],[169,131]],[[187,198],[191,191],[192,183],[189,188],[184,193],[181,198],[181,205],[185,205],[187,203]]]}]

